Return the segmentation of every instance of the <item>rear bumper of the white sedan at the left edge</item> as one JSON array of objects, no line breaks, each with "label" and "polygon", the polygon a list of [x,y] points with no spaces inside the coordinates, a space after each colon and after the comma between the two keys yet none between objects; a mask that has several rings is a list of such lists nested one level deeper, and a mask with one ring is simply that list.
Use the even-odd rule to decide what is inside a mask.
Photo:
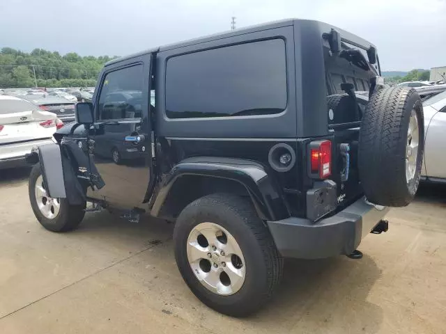
[{"label": "rear bumper of the white sedan at the left edge", "polygon": [[47,143],[53,143],[51,138],[0,145],[0,169],[26,166],[25,155],[33,147]]}]

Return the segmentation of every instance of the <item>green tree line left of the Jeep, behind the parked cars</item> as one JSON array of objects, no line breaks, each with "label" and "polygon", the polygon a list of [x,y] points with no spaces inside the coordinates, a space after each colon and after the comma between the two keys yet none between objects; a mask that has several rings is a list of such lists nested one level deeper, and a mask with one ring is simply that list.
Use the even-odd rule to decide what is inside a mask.
[{"label": "green tree line left of the Jeep, behind the parked cars", "polygon": [[0,51],[0,88],[95,86],[110,56],[79,56],[70,52],[33,49],[30,53],[3,47]]}]

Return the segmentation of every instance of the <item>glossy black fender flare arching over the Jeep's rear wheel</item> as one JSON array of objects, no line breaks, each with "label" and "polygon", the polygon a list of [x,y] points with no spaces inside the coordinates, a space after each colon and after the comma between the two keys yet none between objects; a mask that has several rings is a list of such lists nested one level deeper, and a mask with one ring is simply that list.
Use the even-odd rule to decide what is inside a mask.
[{"label": "glossy black fender flare arching over the Jeep's rear wheel", "polygon": [[259,217],[265,221],[277,221],[290,216],[282,189],[272,175],[255,161],[221,157],[193,157],[180,161],[167,175],[162,177],[159,191],[151,209],[158,216],[172,186],[186,175],[219,177],[239,182],[249,197]]}]

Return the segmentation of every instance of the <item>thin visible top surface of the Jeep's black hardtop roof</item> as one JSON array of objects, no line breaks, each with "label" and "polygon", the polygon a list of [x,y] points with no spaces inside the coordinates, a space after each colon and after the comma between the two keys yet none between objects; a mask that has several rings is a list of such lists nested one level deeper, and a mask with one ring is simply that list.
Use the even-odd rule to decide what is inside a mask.
[{"label": "thin visible top surface of the Jeep's black hardtop roof", "polygon": [[244,35],[246,33],[253,33],[256,31],[263,31],[268,29],[275,29],[275,28],[281,28],[284,26],[295,26],[300,27],[302,32],[305,32],[306,30],[318,30],[320,31],[321,35],[323,33],[330,33],[331,29],[336,29],[340,34],[341,38],[343,40],[348,40],[349,42],[352,42],[353,44],[362,47],[363,49],[369,49],[370,47],[375,47],[373,44],[368,42],[367,40],[364,40],[363,38],[360,38],[357,35],[354,35],[353,33],[349,33],[348,31],[344,31],[342,29],[337,28],[336,26],[332,26],[330,24],[316,21],[316,20],[309,20],[309,19],[282,19],[279,21],[273,21],[273,22],[267,22],[263,24],[256,24],[254,26],[247,26],[245,28],[241,29],[234,29],[231,31],[225,31],[222,33],[215,33],[213,35],[207,35],[201,38],[194,38],[192,40],[185,40],[183,42],[177,42],[174,44],[164,45],[161,47],[153,47],[151,49],[146,49],[144,51],[139,51],[135,54],[130,54],[128,56],[123,56],[120,58],[116,58],[112,61],[109,61],[105,64],[105,66],[113,65],[115,63],[119,63],[121,61],[128,61],[132,58],[136,58],[139,56],[143,56],[144,54],[152,54],[172,49],[178,49],[180,47],[189,47],[191,45],[198,45],[203,42],[210,42],[213,40],[220,40],[222,38],[231,38],[238,35]]}]

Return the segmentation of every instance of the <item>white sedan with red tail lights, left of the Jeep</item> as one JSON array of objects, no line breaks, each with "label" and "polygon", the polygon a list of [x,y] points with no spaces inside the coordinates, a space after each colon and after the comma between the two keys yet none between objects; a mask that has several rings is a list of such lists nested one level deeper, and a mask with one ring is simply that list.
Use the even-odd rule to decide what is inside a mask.
[{"label": "white sedan with red tail lights, left of the Jeep", "polygon": [[0,95],[0,169],[25,166],[25,154],[36,145],[52,143],[62,126],[55,113],[20,97]]}]

